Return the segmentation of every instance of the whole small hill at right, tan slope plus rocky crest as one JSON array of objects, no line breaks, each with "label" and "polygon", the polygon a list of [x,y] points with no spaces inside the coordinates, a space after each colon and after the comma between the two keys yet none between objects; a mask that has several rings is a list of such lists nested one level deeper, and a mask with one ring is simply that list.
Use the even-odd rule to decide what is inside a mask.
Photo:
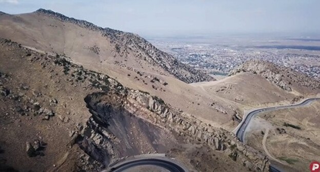
[{"label": "whole small hill at right, tan slope plus rocky crest", "polygon": [[[191,85],[211,96],[232,101],[240,112],[254,107],[291,104],[320,93],[319,81],[260,60],[245,62],[231,71],[227,78]],[[234,117],[242,120],[241,113]]]}]

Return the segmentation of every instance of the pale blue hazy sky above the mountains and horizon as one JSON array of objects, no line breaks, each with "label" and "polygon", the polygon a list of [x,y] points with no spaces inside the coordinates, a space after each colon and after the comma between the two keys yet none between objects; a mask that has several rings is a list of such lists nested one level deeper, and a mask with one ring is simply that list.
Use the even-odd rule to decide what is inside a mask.
[{"label": "pale blue hazy sky above the mountains and horizon", "polygon": [[39,8],[148,36],[320,31],[319,0],[0,0],[10,14]]}]

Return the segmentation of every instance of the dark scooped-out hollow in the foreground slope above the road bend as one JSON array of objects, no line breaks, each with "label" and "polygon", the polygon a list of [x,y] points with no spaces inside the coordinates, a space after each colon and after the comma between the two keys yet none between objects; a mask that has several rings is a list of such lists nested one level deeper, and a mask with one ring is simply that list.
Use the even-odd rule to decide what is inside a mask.
[{"label": "dark scooped-out hollow in the foreground slope above the road bend", "polygon": [[88,95],[85,101],[92,117],[77,143],[96,161],[107,165],[116,158],[170,148],[169,139],[161,138],[161,128],[134,116],[123,102],[104,93]]}]

